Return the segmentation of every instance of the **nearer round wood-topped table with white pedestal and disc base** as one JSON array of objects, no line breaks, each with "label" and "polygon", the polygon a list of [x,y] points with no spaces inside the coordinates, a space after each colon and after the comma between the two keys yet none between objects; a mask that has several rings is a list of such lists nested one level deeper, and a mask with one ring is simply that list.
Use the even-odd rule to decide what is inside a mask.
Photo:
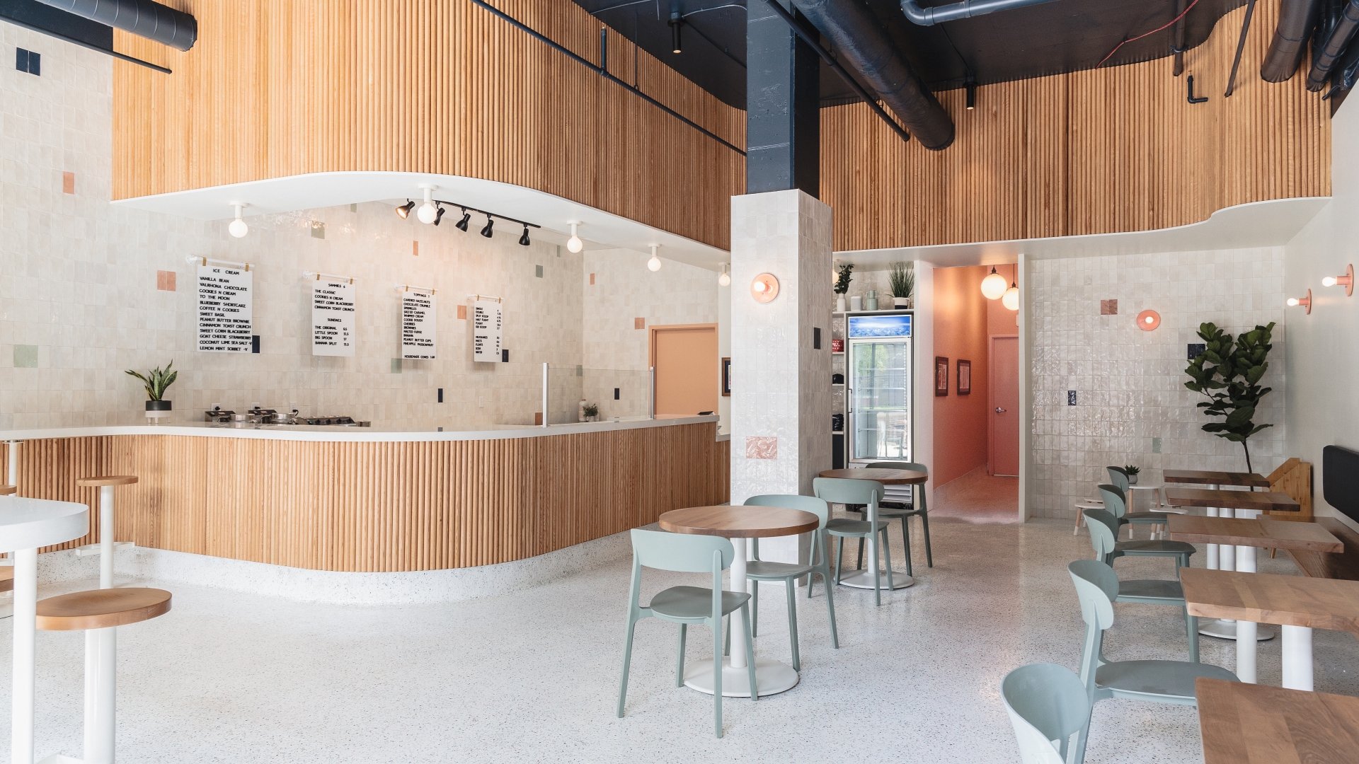
[{"label": "nearer round wood-topped table with white pedestal and disc base", "polygon": [[[731,540],[737,553],[731,560],[731,591],[746,594],[746,538],[769,538],[775,536],[796,536],[817,529],[819,518],[802,510],[780,507],[689,507],[670,510],[660,515],[660,527],[670,533],[690,533],[700,536],[722,536]],[[741,610],[731,613],[733,633],[742,633]],[[746,654],[733,650],[723,659],[722,695],[724,697],[750,697],[750,681],[746,674]],[[685,662],[684,684],[690,689],[712,695],[712,661]],[[787,663],[756,658],[756,688],[760,695],[776,695],[792,689],[798,684],[798,672]]]}]

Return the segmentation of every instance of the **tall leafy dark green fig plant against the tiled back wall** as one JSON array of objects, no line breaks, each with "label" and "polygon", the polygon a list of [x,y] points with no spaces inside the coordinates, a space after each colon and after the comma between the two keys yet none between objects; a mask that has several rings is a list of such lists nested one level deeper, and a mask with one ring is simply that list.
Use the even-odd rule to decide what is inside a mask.
[{"label": "tall leafy dark green fig plant against the tiled back wall", "polygon": [[1273,328],[1272,321],[1268,326],[1257,324],[1250,332],[1233,337],[1211,322],[1203,324],[1199,326],[1199,337],[1204,341],[1204,351],[1185,368],[1185,374],[1190,377],[1185,387],[1208,398],[1199,402],[1203,413],[1226,417],[1204,424],[1204,432],[1241,443],[1246,453],[1246,472],[1254,472],[1246,439],[1265,427],[1273,427],[1253,421],[1261,398],[1272,390],[1261,387],[1260,379],[1269,370],[1267,359],[1273,347],[1269,344]]}]

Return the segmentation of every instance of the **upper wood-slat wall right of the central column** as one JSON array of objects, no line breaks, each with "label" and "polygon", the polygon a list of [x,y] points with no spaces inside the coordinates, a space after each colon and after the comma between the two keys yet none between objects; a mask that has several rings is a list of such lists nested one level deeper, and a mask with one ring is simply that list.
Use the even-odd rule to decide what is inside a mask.
[{"label": "upper wood-slat wall right of the central column", "polygon": [[[864,105],[821,110],[821,198],[837,251],[1114,231],[1208,219],[1249,201],[1330,194],[1328,106],[1260,79],[1279,0],[1257,5],[1223,98],[1245,8],[1171,58],[938,94],[953,147],[902,143]],[[1186,101],[1188,75],[1195,94]]]}]

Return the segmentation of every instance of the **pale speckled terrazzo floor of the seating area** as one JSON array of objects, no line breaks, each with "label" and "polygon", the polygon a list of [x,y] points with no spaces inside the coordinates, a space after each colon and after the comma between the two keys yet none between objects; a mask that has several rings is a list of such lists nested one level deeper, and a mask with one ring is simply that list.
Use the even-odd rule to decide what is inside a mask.
[{"label": "pale speckled terrazzo floor of the seating area", "polygon": [[[167,586],[174,610],[120,629],[118,760],[1018,761],[998,687],[1027,662],[1076,667],[1082,623],[1065,564],[1091,556],[1089,538],[1064,521],[931,526],[935,567],[917,544],[915,587],[881,608],[871,591],[836,593],[840,650],[824,589],[810,602],[799,591],[800,684],[758,703],[728,699],[723,740],[712,735],[711,696],[673,687],[675,627],[659,620],[639,624],[628,714],[614,716],[629,560],[450,605],[304,605]],[[1116,568],[1171,575],[1166,560]],[[1260,568],[1294,572],[1283,556]],[[646,571],[644,594],[696,578]],[[43,594],[72,589],[83,586]],[[776,586],[764,591],[757,651],[787,661],[784,601]],[[1176,609],[1114,608],[1110,658],[1186,657]],[[10,623],[0,687],[10,687]],[[709,644],[692,629],[689,659],[711,655]],[[1231,667],[1230,644],[1203,638],[1203,659]],[[82,650],[77,632],[38,633],[38,759],[80,754]],[[1317,631],[1316,655],[1318,691],[1359,695],[1352,636]],[[1277,639],[1261,644],[1260,678],[1280,681]],[[1087,761],[1201,761],[1195,710],[1102,701]]]}]

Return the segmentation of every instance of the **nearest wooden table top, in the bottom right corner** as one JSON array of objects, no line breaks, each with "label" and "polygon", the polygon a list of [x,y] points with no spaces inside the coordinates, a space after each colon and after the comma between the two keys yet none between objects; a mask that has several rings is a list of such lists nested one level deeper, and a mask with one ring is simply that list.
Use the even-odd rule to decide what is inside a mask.
[{"label": "nearest wooden table top, in the bottom right corner", "polygon": [[1359,750],[1359,697],[1195,680],[1204,764],[1341,764]]}]

